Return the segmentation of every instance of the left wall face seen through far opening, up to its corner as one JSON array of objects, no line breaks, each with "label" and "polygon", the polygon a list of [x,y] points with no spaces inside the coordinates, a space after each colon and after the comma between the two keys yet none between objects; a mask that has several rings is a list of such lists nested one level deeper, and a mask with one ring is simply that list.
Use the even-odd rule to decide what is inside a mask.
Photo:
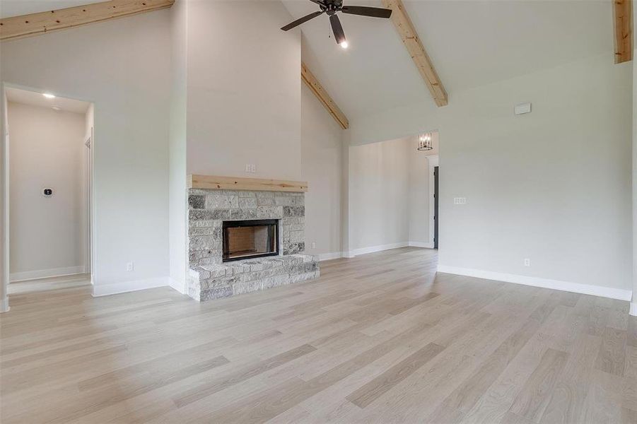
[{"label": "left wall face seen through far opening, up to its corner", "polygon": [[409,242],[406,139],[349,149],[350,249],[354,254]]}]

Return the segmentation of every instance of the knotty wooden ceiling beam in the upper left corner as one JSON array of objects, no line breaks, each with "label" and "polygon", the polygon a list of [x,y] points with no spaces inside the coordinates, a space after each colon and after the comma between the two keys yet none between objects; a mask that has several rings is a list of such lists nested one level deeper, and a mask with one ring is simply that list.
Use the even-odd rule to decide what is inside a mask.
[{"label": "knotty wooden ceiling beam in the upper left corner", "polygon": [[157,11],[175,0],[110,0],[0,19],[0,40],[15,40],[88,23]]}]

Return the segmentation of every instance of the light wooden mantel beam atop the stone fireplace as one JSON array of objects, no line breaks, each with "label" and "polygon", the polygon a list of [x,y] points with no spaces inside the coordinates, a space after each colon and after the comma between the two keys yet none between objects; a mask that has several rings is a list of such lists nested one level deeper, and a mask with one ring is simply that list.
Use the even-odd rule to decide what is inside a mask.
[{"label": "light wooden mantel beam atop the stone fireplace", "polygon": [[280,179],[188,175],[189,189],[255,190],[262,192],[307,192],[308,182]]}]

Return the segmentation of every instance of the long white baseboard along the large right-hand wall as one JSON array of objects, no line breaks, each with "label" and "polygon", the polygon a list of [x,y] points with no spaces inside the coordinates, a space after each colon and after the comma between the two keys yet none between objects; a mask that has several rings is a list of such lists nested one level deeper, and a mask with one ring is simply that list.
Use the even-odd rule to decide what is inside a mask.
[{"label": "long white baseboard along the large right-hand wall", "polygon": [[457,266],[438,265],[438,272],[452,273],[459,276],[484,278],[486,280],[504,281],[505,283],[532,285],[533,287],[551,288],[553,290],[582,293],[583,295],[601,296],[602,298],[631,300],[633,295],[631,290],[622,290],[620,288],[609,288],[602,287],[601,285],[571,283],[569,281],[549,280],[547,278],[483,271],[481,269],[459,268]]}]

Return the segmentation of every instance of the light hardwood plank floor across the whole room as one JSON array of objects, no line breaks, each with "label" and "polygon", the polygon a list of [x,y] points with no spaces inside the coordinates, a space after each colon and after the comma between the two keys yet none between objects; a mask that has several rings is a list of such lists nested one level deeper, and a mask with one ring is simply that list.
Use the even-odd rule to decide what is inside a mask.
[{"label": "light hardwood plank floor across the whole room", "polygon": [[438,274],[436,251],[198,304],[11,295],[8,423],[637,423],[628,303]]}]

